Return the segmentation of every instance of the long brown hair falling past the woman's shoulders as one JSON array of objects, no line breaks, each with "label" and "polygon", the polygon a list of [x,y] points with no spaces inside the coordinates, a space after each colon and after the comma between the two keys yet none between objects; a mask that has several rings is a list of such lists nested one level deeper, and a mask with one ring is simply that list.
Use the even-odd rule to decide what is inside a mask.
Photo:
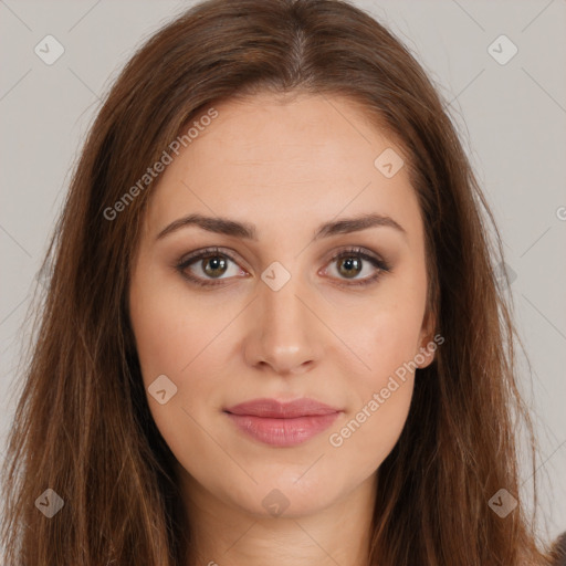
[{"label": "long brown hair falling past the woman's shoulders", "polygon": [[[126,304],[157,181],[119,214],[105,211],[197,115],[262,91],[360,104],[405,148],[421,207],[429,308],[446,342],[417,371],[407,423],[379,468],[369,564],[548,564],[518,493],[520,420],[533,449],[534,440],[515,381],[512,306],[496,283],[499,233],[486,235],[486,201],[419,64],[337,0],[197,4],[139,49],[106,96],[45,262],[50,284],[3,472],[7,563],[187,564],[190,525]],[[54,497],[48,489],[64,502],[51,518],[36,504]],[[500,489],[518,500],[504,518],[489,504]]]}]

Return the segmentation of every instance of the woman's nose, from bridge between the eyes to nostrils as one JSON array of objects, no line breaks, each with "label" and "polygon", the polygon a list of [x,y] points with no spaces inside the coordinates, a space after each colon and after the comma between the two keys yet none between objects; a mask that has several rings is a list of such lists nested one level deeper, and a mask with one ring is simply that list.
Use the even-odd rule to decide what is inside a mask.
[{"label": "woman's nose, from bridge between the eyes to nostrils", "polygon": [[250,311],[245,360],[264,371],[300,375],[322,358],[322,323],[305,287],[292,276],[279,291],[260,282],[259,296]]}]

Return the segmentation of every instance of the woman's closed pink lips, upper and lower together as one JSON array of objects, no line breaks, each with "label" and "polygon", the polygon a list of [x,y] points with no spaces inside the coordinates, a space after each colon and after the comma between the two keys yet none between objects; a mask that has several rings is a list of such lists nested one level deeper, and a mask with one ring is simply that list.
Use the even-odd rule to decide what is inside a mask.
[{"label": "woman's closed pink lips, upper and lower together", "polygon": [[254,399],[224,412],[247,436],[264,444],[285,448],[306,442],[326,430],[343,411],[304,398],[291,402]]}]

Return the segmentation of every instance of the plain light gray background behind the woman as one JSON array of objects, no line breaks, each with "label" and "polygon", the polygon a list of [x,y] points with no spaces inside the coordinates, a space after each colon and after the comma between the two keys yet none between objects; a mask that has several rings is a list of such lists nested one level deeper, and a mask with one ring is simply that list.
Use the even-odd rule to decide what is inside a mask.
[{"label": "plain light gray background behind the woman", "polygon": [[[32,285],[84,135],[134,48],[191,3],[0,0],[2,438]],[[555,537],[566,531],[566,2],[354,3],[387,24],[438,85],[495,214],[532,363],[531,374],[522,363],[520,379],[541,444],[541,536]],[[65,49],[52,65],[34,53],[48,34]],[[504,65],[488,51],[501,34],[518,49]],[[524,465],[527,501],[530,475]]]}]

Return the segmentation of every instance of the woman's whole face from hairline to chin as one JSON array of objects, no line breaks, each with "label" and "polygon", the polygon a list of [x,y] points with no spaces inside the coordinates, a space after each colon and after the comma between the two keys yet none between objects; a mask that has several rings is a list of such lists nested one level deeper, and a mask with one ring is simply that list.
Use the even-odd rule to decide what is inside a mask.
[{"label": "woman's whole face from hairline to chin", "polygon": [[144,385],[191,496],[301,516],[370,484],[432,360],[420,209],[402,149],[347,99],[214,108],[144,219]]}]

